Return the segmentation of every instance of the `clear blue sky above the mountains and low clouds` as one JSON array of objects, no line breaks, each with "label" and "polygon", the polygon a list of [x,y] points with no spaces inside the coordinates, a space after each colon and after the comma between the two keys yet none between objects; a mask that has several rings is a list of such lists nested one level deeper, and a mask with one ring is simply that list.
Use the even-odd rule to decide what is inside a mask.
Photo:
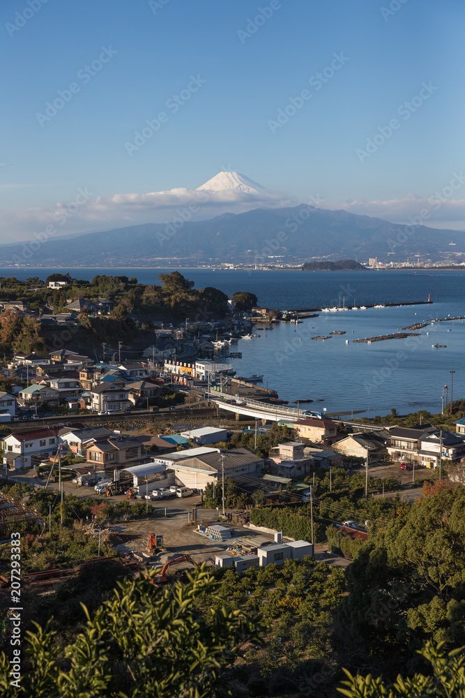
[{"label": "clear blue sky above the mountains and low clouds", "polygon": [[[319,195],[329,207],[405,220],[464,165],[459,0],[273,0],[274,10],[269,0],[29,3],[0,7],[0,242],[30,237],[79,188],[93,197],[63,233],[155,220],[147,200],[112,197],[195,189],[220,170],[296,202]],[[84,78],[102,47],[107,63]],[[344,65],[316,89],[309,80],[329,75],[335,54]],[[205,82],[174,113],[167,102],[192,76]],[[38,116],[73,82],[63,108]],[[427,94],[424,83],[429,96],[399,115]],[[305,89],[310,98],[273,126]],[[128,154],[160,112],[158,132]],[[384,138],[392,119],[399,126]],[[464,221],[465,184],[432,224]]]}]

